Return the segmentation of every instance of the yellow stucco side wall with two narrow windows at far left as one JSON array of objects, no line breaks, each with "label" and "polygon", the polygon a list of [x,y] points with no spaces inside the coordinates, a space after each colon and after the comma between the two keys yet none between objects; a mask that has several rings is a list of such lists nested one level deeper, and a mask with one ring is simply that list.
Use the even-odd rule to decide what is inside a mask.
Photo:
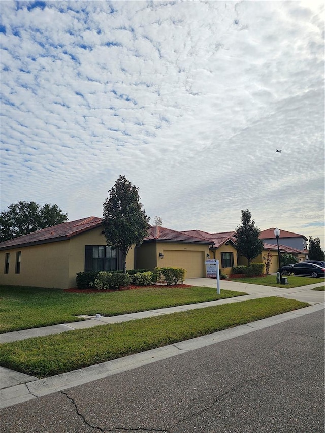
[{"label": "yellow stucco side wall with two narrow windows at far left", "polygon": [[[16,274],[16,252],[21,251],[20,273]],[[4,273],[6,253],[9,273]],[[69,240],[0,251],[0,284],[67,288]]]}]

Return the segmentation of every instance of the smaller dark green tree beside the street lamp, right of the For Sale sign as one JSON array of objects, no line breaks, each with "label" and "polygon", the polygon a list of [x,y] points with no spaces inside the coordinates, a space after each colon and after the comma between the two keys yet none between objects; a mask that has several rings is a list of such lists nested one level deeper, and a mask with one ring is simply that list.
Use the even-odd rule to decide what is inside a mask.
[{"label": "smaller dark green tree beside the street lamp, right of the For Sale sign", "polygon": [[247,258],[248,265],[250,265],[251,260],[262,253],[263,240],[259,239],[261,230],[255,226],[255,221],[251,219],[251,212],[246,209],[246,211],[241,211],[241,213],[242,225],[236,228],[236,246],[237,250]]}]

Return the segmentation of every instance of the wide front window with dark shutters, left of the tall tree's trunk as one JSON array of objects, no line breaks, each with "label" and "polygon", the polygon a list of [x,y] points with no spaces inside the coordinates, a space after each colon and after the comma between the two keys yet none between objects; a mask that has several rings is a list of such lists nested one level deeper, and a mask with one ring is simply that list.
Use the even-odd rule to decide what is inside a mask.
[{"label": "wide front window with dark shutters, left of the tall tree's trunk", "polygon": [[85,271],[116,271],[123,269],[122,255],[118,248],[106,245],[86,245]]}]

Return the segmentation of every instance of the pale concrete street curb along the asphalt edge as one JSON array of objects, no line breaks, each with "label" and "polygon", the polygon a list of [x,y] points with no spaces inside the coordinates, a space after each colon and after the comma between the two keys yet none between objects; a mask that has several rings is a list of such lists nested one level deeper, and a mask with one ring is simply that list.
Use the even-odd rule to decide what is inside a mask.
[{"label": "pale concrete street curb along the asphalt edge", "polygon": [[29,377],[31,380],[26,383],[0,390],[0,408],[9,407],[33,398],[49,395],[87,382],[133,370],[137,367],[142,367],[143,365],[181,355],[221,341],[230,340],[235,337],[249,334],[258,329],[264,329],[287,320],[323,310],[324,308],[325,303],[322,302],[310,307],[282,313],[277,316],[214,332],[213,334],[208,334],[202,337],[151,349],[146,352],[125,356],[123,358],[114,359],[97,365],[91,365],[90,367],[74,370],[72,372],[37,380],[32,380],[34,378]]}]

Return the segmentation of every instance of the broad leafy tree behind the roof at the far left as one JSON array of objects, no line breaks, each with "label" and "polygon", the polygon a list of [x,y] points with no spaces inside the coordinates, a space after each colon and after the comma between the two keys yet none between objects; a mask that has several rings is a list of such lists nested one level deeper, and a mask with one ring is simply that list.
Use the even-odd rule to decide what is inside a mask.
[{"label": "broad leafy tree behind the roof at the far left", "polygon": [[33,231],[52,225],[61,224],[68,220],[57,205],[40,206],[35,202],[13,203],[7,211],[0,213],[0,242],[28,235]]}]

